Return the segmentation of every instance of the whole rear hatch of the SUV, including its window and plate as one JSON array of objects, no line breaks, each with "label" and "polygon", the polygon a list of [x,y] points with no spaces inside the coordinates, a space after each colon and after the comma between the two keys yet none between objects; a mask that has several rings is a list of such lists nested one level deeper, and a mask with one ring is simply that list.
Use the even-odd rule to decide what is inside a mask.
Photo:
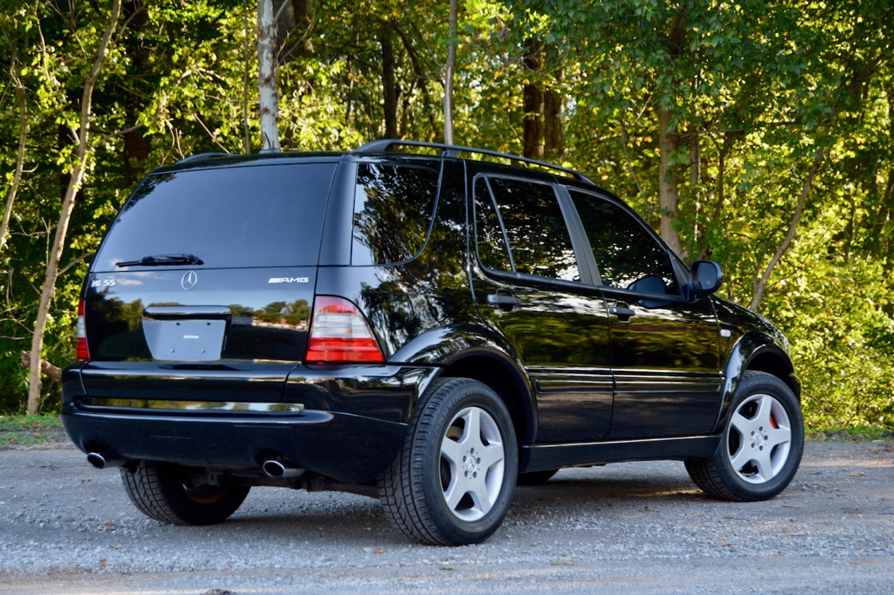
[{"label": "whole rear hatch of the SUV, including its window and plate", "polygon": [[337,165],[308,157],[150,174],[87,281],[88,397],[278,402],[307,349]]}]

